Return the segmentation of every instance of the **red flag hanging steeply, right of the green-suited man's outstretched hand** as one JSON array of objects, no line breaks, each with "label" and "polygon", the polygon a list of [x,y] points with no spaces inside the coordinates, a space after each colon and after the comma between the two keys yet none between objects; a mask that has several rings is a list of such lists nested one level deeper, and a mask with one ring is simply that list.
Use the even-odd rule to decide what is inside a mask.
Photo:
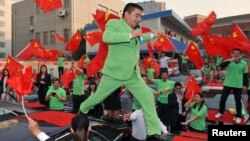
[{"label": "red flag hanging steeply, right of the green-suited man's outstretched hand", "polygon": [[200,51],[194,42],[190,42],[185,51],[185,55],[188,56],[188,60],[193,62],[197,69],[201,69],[204,66]]}]

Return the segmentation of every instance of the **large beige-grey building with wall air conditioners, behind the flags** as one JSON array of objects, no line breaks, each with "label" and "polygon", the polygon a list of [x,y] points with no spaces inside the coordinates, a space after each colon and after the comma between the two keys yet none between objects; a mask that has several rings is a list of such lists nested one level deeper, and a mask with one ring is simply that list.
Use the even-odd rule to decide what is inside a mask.
[{"label": "large beige-grey building with wall air conditioners, behind the flags", "polygon": [[91,15],[96,9],[121,15],[124,5],[120,0],[63,0],[62,8],[44,13],[34,0],[15,3],[12,6],[13,55],[34,38],[47,49],[63,52],[66,42],[57,41],[53,33],[67,41],[78,29],[93,23]]}]

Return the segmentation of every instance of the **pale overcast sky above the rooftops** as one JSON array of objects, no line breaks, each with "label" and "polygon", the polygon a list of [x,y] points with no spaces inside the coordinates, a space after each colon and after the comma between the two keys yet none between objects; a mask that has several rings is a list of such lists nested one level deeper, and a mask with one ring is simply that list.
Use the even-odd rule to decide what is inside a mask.
[{"label": "pale overcast sky above the rooftops", "polygon": [[[12,0],[14,2],[22,0]],[[143,2],[149,0],[121,0]],[[156,0],[166,2],[167,9],[174,10],[181,18],[194,14],[207,16],[214,10],[217,17],[250,14],[250,0]]]}]

